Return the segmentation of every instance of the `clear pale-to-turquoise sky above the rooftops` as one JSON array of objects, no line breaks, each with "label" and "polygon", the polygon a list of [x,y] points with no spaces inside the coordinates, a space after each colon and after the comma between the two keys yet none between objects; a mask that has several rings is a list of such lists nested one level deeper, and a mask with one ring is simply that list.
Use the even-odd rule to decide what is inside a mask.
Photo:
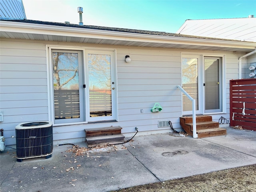
[{"label": "clear pale-to-turquoise sky above the rooftops", "polygon": [[29,20],[175,33],[190,19],[256,17],[256,0],[23,0]]}]

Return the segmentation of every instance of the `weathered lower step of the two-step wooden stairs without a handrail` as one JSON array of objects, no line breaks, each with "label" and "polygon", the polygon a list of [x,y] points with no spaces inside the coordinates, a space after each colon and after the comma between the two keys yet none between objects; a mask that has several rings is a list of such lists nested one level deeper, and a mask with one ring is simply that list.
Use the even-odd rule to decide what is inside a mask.
[{"label": "weathered lower step of the two-step wooden stairs without a handrail", "polygon": [[107,136],[96,136],[86,138],[88,147],[100,146],[100,145],[113,145],[124,142],[125,136],[122,134],[118,135],[107,135]]}]

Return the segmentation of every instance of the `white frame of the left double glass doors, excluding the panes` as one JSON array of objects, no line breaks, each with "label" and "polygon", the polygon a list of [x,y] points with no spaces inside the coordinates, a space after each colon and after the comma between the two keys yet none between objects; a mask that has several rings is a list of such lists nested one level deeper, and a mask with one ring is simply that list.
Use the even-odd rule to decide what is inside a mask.
[{"label": "white frame of the left double glass doors, excluding the panes", "polygon": [[[82,51],[82,62],[84,66],[84,84],[88,82],[88,75],[86,74],[88,72],[87,70],[87,63],[86,63],[86,54],[90,51],[96,52],[100,54],[101,52],[112,52],[112,56],[114,58],[111,58],[111,62],[114,62],[111,64],[111,77],[112,81],[115,82],[114,88],[115,92],[112,95],[112,118],[108,118],[106,120],[102,120],[102,118],[95,119],[96,122],[106,122],[106,121],[118,121],[118,96],[117,96],[117,60],[116,60],[116,49],[104,49],[104,48],[90,48],[90,47],[76,47],[76,46],[55,46],[55,45],[46,45],[46,58],[47,58],[47,77],[48,77],[48,118],[50,121],[52,121],[53,126],[62,126],[62,125],[73,125],[73,124],[86,124],[90,122],[90,113],[88,108],[88,99],[87,101],[84,101],[84,108],[82,110],[85,111],[85,121],[84,122],[68,122],[68,123],[55,123],[54,122],[54,90],[53,90],[53,70],[52,70],[52,50],[75,50],[75,51]],[[89,90],[84,89],[84,99],[89,96]]]}]

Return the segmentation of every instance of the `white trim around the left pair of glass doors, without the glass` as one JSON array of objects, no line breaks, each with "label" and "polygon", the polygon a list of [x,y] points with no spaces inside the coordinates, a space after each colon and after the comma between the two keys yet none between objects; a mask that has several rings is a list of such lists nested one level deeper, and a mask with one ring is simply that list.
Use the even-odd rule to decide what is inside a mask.
[{"label": "white trim around the left pair of glass doors, without the glass", "polygon": [[[87,67],[87,64],[85,63],[85,54],[88,50],[95,50],[95,51],[112,51],[113,52],[113,66],[114,69],[111,70],[111,75],[113,75],[114,80],[115,80],[115,90],[116,94],[113,97],[114,104],[112,106],[112,110],[115,111],[116,116],[115,119],[112,120],[104,120],[104,121],[96,121],[97,123],[101,122],[108,122],[108,121],[118,121],[118,95],[117,95],[117,59],[116,59],[116,49],[110,49],[110,48],[92,48],[92,47],[80,47],[80,46],[56,46],[56,45],[46,45],[46,64],[47,64],[47,87],[48,87],[48,119],[52,121],[53,126],[64,126],[64,125],[75,125],[75,124],[87,124],[90,123],[88,122],[88,119],[86,118],[85,114],[85,121],[84,122],[69,122],[69,123],[58,123],[56,124],[54,122],[54,90],[53,90],[53,70],[52,70],[52,50],[73,50],[73,51],[82,51],[82,63],[84,66],[84,69]],[[83,71],[84,73],[84,71]],[[84,78],[86,81],[86,78]],[[85,82],[86,83],[86,82]],[[87,89],[84,92],[84,99],[88,95]],[[87,107],[86,107],[86,102],[84,105],[83,110],[86,112]]]}]

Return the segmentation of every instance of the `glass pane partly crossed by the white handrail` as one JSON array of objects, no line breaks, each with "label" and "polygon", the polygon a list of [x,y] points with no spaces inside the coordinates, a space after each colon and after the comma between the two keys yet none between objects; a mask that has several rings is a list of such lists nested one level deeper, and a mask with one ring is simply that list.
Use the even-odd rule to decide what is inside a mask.
[{"label": "glass pane partly crossed by the white handrail", "polygon": [[[198,110],[198,58],[182,58],[182,88],[196,100]],[[182,93],[183,111],[192,111],[192,102]]]}]

